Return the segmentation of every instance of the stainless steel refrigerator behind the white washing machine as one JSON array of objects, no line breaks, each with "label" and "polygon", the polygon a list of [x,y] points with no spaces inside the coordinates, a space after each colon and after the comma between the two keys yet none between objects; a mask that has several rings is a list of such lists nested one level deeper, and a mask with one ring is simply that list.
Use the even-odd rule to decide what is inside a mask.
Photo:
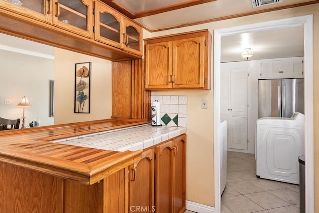
[{"label": "stainless steel refrigerator behind the white washing machine", "polygon": [[258,118],[304,114],[304,79],[258,80]]}]

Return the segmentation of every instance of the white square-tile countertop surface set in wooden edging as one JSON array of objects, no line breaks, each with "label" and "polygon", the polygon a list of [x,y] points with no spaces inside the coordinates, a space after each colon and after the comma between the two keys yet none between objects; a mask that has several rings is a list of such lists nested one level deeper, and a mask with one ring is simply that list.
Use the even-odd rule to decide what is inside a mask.
[{"label": "white square-tile countertop surface set in wooden edging", "polygon": [[186,127],[151,126],[150,124],[142,124],[54,140],[53,143],[123,152],[126,150],[136,151],[146,149],[184,133],[186,133]]}]

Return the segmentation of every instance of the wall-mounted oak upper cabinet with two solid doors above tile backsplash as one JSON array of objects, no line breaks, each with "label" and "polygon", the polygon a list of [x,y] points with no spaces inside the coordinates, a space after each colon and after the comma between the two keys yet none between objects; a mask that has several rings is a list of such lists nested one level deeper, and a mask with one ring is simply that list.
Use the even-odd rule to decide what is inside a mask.
[{"label": "wall-mounted oak upper cabinet with two solid doors above tile backsplash", "polygon": [[208,30],[144,39],[145,88],[210,89]]}]

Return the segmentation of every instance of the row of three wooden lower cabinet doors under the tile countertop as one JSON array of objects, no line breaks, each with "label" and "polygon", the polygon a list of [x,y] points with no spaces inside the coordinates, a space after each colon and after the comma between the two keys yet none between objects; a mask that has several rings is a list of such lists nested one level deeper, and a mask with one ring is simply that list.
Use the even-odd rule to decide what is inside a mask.
[{"label": "row of three wooden lower cabinet doors under the tile countertop", "polygon": [[128,174],[128,212],[183,213],[186,135],[144,150],[142,159],[128,167]]}]

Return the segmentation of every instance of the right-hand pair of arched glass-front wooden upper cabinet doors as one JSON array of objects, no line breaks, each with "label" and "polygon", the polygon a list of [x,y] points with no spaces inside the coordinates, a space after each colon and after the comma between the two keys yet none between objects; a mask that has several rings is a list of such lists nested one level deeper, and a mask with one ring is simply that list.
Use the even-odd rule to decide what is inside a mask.
[{"label": "right-hand pair of arched glass-front wooden upper cabinet doors", "polygon": [[142,55],[142,27],[95,1],[95,40]]}]

